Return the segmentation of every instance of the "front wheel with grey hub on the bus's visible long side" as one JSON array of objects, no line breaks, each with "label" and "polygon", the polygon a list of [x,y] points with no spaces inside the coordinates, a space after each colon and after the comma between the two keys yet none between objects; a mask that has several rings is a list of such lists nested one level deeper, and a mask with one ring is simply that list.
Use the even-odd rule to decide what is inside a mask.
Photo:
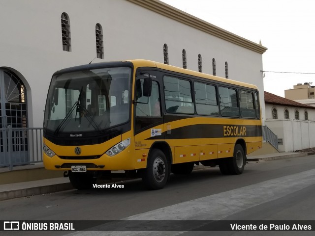
[{"label": "front wheel with grey hub on the bus's visible long side", "polygon": [[165,154],[159,149],[153,149],[149,155],[147,168],[142,171],[142,182],[151,190],[165,186],[169,176],[169,167]]}]

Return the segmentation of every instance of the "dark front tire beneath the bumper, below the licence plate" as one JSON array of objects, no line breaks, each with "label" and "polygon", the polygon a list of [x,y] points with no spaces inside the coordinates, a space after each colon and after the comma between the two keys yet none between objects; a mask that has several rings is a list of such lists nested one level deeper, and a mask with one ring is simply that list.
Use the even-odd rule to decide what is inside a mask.
[{"label": "dark front tire beneath the bumper, below the licence plate", "polygon": [[69,172],[69,180],[72,186],[78,190],[90,189],[96,183],[93,172]]}]

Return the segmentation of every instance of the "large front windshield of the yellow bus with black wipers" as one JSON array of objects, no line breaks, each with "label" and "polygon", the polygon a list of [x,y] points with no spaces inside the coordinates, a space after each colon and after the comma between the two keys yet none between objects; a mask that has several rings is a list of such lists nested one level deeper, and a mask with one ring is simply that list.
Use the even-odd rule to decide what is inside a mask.
[{"label": "large front windshield of the yellow bus with black wipers", "polygon": [[44,128],[60,132],[104,131],[129,120],[131,68],[81,70],[53,76]]}]

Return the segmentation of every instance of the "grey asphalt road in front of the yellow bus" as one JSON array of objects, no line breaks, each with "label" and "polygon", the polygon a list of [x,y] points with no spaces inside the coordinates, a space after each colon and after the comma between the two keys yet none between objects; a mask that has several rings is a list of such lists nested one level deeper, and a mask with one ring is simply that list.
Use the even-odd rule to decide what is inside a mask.
[{"label": "grey asphalt road in front of the yellow bus", "polygon": [[[196,170],[189,176],[172,175],[166,187],[156,191],[145,190],[140,180],[117,184],[123,184],[124,188],[68,190],[1,201],[0,220],[127,219],[141,220],[140,223],[160,220],[161,227],[166,222],[166,228],[170,223],[163,220],[186,220],[186,227],[190,227],[189,222],[192,220],[315,222],[315,156],[250,162],[242,175],[223,176],[219,168]],[[92,230],[102,230],[102,227],[104,226],[99,225]],[[229,231],[216,232],[214,235],[314,235],[315,226],[312,230],[313,232]],[[21,235],[21,232],[5,233]],[[41,235],[43,232],[39,233],[23,232],[23,235]],[[148,232],[45,232],[45,235],[66,234],[149,235]],[[163,231],[154,234],[209,235],[209,232]]]}]

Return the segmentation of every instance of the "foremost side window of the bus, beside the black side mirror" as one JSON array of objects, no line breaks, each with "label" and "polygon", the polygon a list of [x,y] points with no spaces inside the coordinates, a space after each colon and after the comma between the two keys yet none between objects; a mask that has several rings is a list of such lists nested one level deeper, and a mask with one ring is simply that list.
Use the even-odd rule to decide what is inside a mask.
[{"label": "foremost side window of the bus, beside the black side mirror", "polygon": [[[141,90],[143,89],[143,81],[144,79],[139,79],[141,82]],[[139,88],[140,89],[140,88]],[[158,89],[158,82],[152,81],[152,91],[151,96],[138,96],[136,98],[136,116],[153,116],[153,117],[160,117],[161,116],[161,106],[160,106],[160,97],[159,97],[159,89]],[[145,104],[147,103],[148,104]]]}]

